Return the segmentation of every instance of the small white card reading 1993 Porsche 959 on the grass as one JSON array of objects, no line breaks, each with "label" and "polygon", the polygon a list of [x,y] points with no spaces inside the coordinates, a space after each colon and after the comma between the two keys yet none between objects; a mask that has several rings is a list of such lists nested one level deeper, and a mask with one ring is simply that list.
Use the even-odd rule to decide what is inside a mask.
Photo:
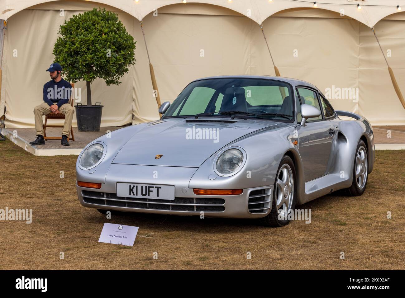
[{"label": "small white card reading 1993 Porsche 959 on the grass", "polygon": [[98,242],[133,246],[139,227],[104,223]]}]

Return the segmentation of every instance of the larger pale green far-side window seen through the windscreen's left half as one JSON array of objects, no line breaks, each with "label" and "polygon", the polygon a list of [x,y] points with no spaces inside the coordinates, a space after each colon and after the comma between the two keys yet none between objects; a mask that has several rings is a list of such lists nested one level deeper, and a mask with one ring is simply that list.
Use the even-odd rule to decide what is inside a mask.
[{"label": "larger pale green far-side window seen through the windscreen's left half", "polygon": [[194,115],[196,111],[205,111],[215,90],[208,87],[195,87],[187,98],[180,113],[175,115]]}]

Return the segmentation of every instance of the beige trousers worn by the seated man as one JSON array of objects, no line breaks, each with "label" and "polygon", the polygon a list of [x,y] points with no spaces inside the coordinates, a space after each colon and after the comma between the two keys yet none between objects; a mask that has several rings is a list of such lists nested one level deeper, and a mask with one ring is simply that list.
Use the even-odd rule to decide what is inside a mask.
[{"label": "beige trousers worn by the seated man", "polygon": [[[42,116],[48,115],[49,113],[51,113],[51,107],[46,102],[43,102],[42,104],[34,108],[36,134],[40,134],[41,136],[44,135],[44,128],[43,128],[44,123]],[[65,115],[65,123],[63,125],[62,134],[69,137],[75,109],[73,109],[73,107],[70,106],[70,104],[62,104],[62,106],[60,106],[59,108],[59,113]]]}]

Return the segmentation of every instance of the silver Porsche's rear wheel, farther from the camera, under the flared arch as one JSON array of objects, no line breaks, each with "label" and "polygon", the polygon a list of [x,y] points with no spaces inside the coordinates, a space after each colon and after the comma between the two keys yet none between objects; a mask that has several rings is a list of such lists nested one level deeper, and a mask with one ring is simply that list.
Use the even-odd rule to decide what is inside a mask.
[{"label": "silver Porsche's rear wheel, farther from the camera, under the flared arch", "polygon": [[361,196],[366,190],[368,165],[366,144],[360,140],[354,158],[352,185],[345,189],[348,196]]}]

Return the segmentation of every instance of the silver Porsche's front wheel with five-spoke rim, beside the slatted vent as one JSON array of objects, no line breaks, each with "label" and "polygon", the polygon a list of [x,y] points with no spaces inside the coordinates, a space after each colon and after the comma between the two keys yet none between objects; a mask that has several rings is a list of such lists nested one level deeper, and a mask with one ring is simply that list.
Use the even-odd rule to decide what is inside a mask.
[{"label": "silver Porsche's front wheel with five-spoke rim, beside the slatted vent", "polygon": [[287,215],[296,204],[296,174],[294,162],[288,155],[281,159],[273,188],[273,206],[270,213],[259,221],[264,226],[282,227],[290,220]]}]

